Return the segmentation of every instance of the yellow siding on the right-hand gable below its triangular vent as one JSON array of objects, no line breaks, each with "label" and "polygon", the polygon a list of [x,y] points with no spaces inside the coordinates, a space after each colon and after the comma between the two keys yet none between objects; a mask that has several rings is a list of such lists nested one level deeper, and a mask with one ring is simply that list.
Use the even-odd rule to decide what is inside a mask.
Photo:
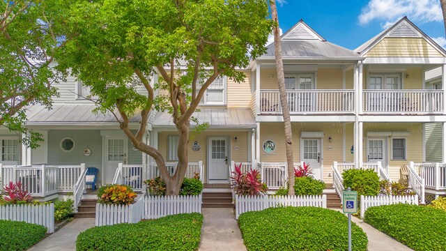
[{"label": "yellow siding on the right-hand gable below its triangular vent", "polygon": [[443,55],[429,45],[424,38],[384,38],[369,50],[365,56],[438,57]]}]

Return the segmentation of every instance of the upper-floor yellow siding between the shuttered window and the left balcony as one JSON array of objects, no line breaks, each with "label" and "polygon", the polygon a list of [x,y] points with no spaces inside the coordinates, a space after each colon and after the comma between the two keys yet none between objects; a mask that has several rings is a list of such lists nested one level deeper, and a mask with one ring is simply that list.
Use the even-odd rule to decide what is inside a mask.
[{"label": "upper-floor yellow siding between the shuttered window and the left balcony", "polygon": [[227,107],[229,109],[251,108],[251,72],[243,71],[245,73],[245,82],[236,83],[233,79],[227,81]]}]

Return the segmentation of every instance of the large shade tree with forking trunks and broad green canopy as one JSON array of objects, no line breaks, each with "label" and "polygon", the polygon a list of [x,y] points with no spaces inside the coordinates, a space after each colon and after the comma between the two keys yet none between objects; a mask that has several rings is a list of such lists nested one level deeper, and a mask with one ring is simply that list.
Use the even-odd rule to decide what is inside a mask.
[{"label": "large shade tree with forking trunks and broad green canopy", "polygon": [[[192,114],[206,89],[221,75],[243,81],[236,68],[265,52],[272,29],[267,0],[79,1],[66,22],[67,36],[75,38],[59,57],[59,68],[90,86],[98,110],[114,112],[133,146],[153,157],[167,195],[180,192]],[[155,85],[153,75],[160,76]],[[155,96],[157,89],[166,94]],[[143,142],[154,108],[168,109],[178,130],[173,176],[162,153]],[[137,132],[129,128],[134,115],[141,119]]]}]

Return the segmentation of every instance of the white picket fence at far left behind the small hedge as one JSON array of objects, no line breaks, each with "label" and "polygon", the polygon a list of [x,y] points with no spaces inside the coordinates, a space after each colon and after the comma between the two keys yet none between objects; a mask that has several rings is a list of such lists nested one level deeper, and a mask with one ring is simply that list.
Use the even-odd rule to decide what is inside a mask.
[{"label": "white picket fence at far left behind the small hedge", "polygon": [[0,206],[0,220],[24,221],[47,228],[54,233],[54,204]]}]

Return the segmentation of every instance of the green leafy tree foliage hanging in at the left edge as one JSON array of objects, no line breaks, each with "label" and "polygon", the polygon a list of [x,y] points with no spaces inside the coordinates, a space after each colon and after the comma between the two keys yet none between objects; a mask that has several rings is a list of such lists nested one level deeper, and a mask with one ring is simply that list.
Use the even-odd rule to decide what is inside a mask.
[{"label": "green leafy tree foliage hanging in at the left edge", "polygon": [[[26,135],[23,143],[34,148],[41,140],[27,130],[25,107],[51,107],[59,75],[52,70],[61,43],[54,22],[63,16],[66,1],[1,1],[0,15],[0,126]],[[66,37],[63,40],[68,41]]]}]

